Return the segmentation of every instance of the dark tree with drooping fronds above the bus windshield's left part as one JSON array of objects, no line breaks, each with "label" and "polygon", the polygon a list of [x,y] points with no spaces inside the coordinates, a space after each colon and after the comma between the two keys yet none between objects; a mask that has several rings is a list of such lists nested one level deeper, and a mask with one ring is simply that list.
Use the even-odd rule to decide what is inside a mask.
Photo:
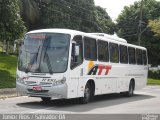
[{"label": "dark tree with drooping fronds above the bus windshield's left part", "polygon": [[20,15],[29,31],[42,28],[42,10],[50,1],[52,0],[18,0]]}]

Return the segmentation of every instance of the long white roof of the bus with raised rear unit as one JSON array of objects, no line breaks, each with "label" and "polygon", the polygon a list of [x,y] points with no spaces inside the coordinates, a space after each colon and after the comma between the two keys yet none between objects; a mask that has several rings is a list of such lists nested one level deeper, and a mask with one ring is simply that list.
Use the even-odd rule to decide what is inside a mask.
[{"label": "long white roof of the bus with raised rear unit", "polygon": [[105,33],[85,33],[85,32],[81,32],[81,31],[77,31],[77,30],[71,30],[71,29],[50,28],[50,29],[33,30],[33,31],[28,32],[27,34],[29,34],[29,33],[53,33],[53,32],[70,34],[70,35],[84,35],[84,36],[92,37],[92,38],[95,38],[95,39],[102,39],[102,40],[105,40],[105,41],[114,42],[114,43],[118,43],[118,44],[127,45],[129,47],[136,47],[136,48],[146,50],[145,47],[129,44],[123,38],[119,38],[117,36],[109,35],[109,34],[105,34]]}]

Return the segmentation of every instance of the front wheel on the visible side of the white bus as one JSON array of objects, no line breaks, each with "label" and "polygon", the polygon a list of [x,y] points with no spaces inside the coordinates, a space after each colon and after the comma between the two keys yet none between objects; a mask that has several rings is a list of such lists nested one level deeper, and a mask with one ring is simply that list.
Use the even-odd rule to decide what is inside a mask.
[{"label": "front wheel on the visible side of the white bus", "polygon": [[84,97],[80,98],[80,103],[85,104],[91,100],[91,86],[89,83],[86,84],[84,89]]}]

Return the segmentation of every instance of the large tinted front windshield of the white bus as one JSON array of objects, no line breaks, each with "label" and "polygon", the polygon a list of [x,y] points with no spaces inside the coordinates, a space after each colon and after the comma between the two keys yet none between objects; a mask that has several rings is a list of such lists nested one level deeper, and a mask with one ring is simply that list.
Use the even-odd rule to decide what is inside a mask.
[{"label": "large tinted front windshield of the white bus", "polygon": [[21,46],[18,69],[34,73],[62,73],[68,65],[70,35],[27,34]]}]

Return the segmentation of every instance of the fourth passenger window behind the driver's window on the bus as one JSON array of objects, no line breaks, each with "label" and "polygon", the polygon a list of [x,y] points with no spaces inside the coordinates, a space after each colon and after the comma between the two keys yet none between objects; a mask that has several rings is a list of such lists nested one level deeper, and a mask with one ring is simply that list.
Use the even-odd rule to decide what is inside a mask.
[{"label": "fourth passenger window behind the driver's window on the bus", "polygon": [[128,63],[127,46],[120,45],[120,62]]}]

